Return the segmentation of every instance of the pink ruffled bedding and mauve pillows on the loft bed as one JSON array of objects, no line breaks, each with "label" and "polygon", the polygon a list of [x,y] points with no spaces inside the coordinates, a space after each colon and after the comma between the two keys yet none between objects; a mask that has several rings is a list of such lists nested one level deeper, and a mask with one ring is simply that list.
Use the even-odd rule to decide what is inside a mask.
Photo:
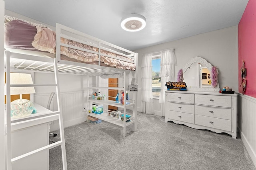
[{"label": "pink ruffled bedding and mauve pillows on the loft bed", "polygon": [[[23,35],[25,37],[23,37]],[[98,48],[96,47],[78,43],[76,41],[72,41],[69,39],[61,38],[61,43],[65,43],[68,45],[80,47],[82,49],[88,49],[90,51],[98,52]],[[24,21],[20,21],[20,20],[9,21],[8,23],[6,23],[6,29],[5,29],[5,46],[8,48],[16,48],[16,49],[47,51],[49,53],[55,54],[56,33],[55,31],[52,31],[49,28],[33,26],[33,25],[30,25],[29,23],[25,23]],[[98,54],[81,51],[77,49],[72,49],[68,47],[63,47],[63,46],[61,46],[60,50],[61,50],[61,55],[66,56],[66,57],[62,56],[61,59],[65,59],[69,61],[77,61],[82,63],[90,63],[90,64],[96,64],[98,63],[98,60],[99,60]],[[111,67],[125,69],[125,70],[136,69],[136,65],[133,63],[129,63],[129,62],[118,60],[118,59],[113,59],[103,55],[104,54],[110,55],[119,59],[132,61],[132,59],[128,57],[118,55],[116,53],[111,53],[109,51],[102,50],[102,49],[100,52],[102,53],[102,55],[100,56],[100,61],[102,62],[101,65],[103,66],[111,66]]]}]

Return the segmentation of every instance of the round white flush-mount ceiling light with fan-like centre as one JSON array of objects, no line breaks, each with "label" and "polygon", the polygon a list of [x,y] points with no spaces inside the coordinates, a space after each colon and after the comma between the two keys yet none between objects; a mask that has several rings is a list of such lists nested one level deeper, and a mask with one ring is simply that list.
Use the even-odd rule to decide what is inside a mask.
[{"label": "round white flush-mount ceiling light with fan-like centre", "polygon": [[146,18],[140,14],[130,14],[121,20],[121,27],[126,31],[140,31],[146,26]]}]

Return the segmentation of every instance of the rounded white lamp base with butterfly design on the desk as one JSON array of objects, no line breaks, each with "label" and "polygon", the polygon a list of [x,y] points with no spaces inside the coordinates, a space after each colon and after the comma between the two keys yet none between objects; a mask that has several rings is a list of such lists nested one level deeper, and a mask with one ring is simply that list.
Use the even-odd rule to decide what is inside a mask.
[{"label": "rounded white lamp base with butterfly design on the desk", "polygon": [[30,116],[34,109],[34,104],[30,100],[18,99],[11,102],[11,117],[19,118]]}]

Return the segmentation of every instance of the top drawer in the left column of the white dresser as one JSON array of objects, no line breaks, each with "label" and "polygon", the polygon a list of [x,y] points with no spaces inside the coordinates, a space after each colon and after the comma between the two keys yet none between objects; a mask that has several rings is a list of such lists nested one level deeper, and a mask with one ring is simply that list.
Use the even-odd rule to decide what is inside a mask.
[{"label": "top drawer in the left column of the white dresser", "polygon": [[182,102],[194,104],[194,94],[182,94],[182,93],[168,93],[166,96],[167,101],[170,102]]}]

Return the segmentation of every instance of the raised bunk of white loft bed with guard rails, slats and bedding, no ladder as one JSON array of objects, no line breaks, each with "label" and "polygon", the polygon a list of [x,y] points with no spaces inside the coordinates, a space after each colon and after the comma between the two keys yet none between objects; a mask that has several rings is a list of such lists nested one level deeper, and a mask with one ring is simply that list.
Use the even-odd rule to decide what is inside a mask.
[{"label": "raised bunk of white loft bed with guard rails, slats and bedding, no ladder", "polygon": [[[136,53],[58,23],[56,23],[56,31],[52,31],[42,24],[5,16],[4,39],[5,49],[11,53],[22,54],[23,56],[56,58],[58,64],[93,68],[86,71],[79,70],[79,68],[58,66],[60,73],[87,74],[87,72],[92,71],[93,75],[100,75],[136,69]],[[52,61],[49,59],[40,59],[39,61],[44,60],[46,62]],[[17,61],[13,62],[11,65],[15,69],[32,69],[34,71],[50,71],[52,69],[48,65],[35,63],[28,65],[18,64]],[[99,72],[93,71],[97,69],[99,69]],[[102,72],[101,70],[108,71]]]}]

